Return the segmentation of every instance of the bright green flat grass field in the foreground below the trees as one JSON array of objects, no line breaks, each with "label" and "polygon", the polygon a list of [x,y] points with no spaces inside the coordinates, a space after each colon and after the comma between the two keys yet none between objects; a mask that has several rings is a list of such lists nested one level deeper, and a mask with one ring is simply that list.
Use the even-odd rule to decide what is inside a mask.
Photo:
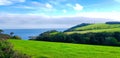
[{"label": "bright green flat grass field in the foreground below the trees", "polygon": [[14,49],[33,58],[120,58],[120,47],[44,41],[9,40]]}]

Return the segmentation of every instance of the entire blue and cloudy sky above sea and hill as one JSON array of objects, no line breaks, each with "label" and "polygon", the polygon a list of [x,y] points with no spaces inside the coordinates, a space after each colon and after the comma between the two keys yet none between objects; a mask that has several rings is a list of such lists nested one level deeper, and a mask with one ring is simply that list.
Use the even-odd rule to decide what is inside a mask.
[{"label": "entire blue and cloudy sky above sea and hill", "polygon": [[120,0],[0,0],[0,29],[120,21]]}]

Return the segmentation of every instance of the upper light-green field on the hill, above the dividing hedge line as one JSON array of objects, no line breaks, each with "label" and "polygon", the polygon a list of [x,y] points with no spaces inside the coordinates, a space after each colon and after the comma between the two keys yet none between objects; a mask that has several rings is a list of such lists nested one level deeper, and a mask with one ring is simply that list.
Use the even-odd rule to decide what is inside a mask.
[{"label": "upper light-green field on the hill, above the dividing hedge line", "polygon": [[120,28],[120,24],[92,24],[88,26],[75,28],[73,31],[100,30],[112,28]]}]

